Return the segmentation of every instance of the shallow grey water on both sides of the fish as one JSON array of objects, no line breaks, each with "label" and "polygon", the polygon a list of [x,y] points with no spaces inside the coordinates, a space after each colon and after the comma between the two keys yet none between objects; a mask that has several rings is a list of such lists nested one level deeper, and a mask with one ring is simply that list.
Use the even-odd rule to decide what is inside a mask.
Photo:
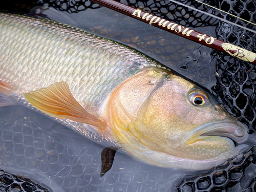
[{"label": "shallow grey water on both sides of the fish", "polygon": [[[208,54],[211,50],[195,42],[106,8],[72,14],[36,10],[57,22],[134,47],[208,89],[216,83],[215,60]],[[215,28],[196,30],[216,36]],[[187,62],[187,67],[183,67]],[[176,191],[183,178],[197,174],[145,165],[116,153],[112,169],[100,178],[103,146],[22,106],[0,108],[0,122],[1,168],[52,191]],[[253,145],[254,139],[250,143]],[[244,176],[248,176],[248,181],[256,176],[255,168],[255,164],[250,164],[246,169]],[[229,191],[239,191],[248,185]]]}]

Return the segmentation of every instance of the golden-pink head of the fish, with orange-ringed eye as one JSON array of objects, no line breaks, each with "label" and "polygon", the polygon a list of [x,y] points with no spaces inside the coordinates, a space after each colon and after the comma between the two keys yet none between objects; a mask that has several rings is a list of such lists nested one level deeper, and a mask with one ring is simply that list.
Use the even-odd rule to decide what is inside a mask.
[{"label": "golden-pink head of the fish, with orange-ringed eye", "polygon": [[163,167],[178,168],[172,162],[180,160],[189,162],[191,169],[204,169],[204,163],[237,155],[241,147],[236,144],[248,135],[209,93],[156,69],[144,70],[119,85],[111,98],[110,118],[125,151]]}]

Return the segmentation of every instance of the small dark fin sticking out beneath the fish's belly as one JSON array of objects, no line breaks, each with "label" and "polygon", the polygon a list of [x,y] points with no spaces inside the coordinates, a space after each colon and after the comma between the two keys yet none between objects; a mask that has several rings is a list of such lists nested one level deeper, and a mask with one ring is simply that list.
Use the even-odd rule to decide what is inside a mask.
[{"label": "small dark fin sticking out beneath the fish's belly", "polygon": [[105,147],[102,150],[100,177],[105,175],[105,173],[111,169],[117,150],[118,148],[115,148],[115,147]]}]

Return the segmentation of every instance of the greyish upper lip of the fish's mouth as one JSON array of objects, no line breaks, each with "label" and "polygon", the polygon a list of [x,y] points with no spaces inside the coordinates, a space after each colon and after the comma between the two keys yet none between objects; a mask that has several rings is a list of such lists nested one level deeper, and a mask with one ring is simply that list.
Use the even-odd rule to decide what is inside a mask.
[{"label": "greyish upper lip of the fish's mouth", "polygon": [[191,142],[198,136],[219,136],[229,138],[234,143],[239,144],[246,141],[247,135],[247,129],[242,123],[220,121],[199,126],[197,129],[190,132],[183,141]]}]

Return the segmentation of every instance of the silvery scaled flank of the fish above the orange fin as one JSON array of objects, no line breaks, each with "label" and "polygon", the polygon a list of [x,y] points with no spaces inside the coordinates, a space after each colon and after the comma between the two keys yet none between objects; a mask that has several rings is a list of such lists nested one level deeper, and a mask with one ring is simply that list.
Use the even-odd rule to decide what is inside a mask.
[{"label": "silvery scaled flank of the fish above the orange fin", "polygon": [[0,76],[18,95],[66,81],[83,107],[95,108],[133,75],[134,63],[155,65],[113,41],[51,21],[1,13],[0,28]]}]

